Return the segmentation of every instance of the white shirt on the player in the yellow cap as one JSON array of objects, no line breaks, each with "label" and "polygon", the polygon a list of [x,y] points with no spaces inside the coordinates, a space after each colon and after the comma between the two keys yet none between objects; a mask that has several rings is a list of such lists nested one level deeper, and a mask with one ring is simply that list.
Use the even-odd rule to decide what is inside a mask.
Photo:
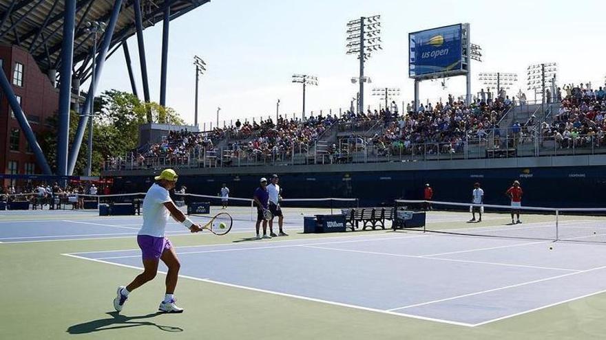
[{"label": "white shirt on the player in the yellow cap", "polygon": [[166,224],[170,218],[170,212],[164,203],[171,201],[168,190],[156,183],[151,185],[143,199],[143,226],[138,232],[139,235],[164,237]]}]

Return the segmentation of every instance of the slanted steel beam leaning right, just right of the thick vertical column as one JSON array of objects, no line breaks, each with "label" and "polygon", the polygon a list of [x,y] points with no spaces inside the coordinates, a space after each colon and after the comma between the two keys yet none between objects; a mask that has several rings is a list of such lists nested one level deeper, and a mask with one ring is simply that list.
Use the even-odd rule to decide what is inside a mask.
[{"label": "slanted steel beam leaning right, just right of the thick vertical column", "polygon": [[[86,108],[90,107],[92,100],[94,100],[94,89],[96,89],[96,85],[99,81],[99,78],[101,78],[101,72],[103,71],[103,65],[105,64],[105,56],[107,55],[109,45],[112,43],[112,36],[114,35],[114,30],[116,30],[116,22],[118,21],[118,14],[120,14],[121,8],[122,0],[116,0],[114,2],[112,15],[109,17],[109,23],[107,24],[105,35],[103,36],[101,49],[99,50],[99,54],[97,55],[97,66],[95,70],[94,82],[91,82],[89,91],[86,95],[86,100],[84,102],[84,105],[82,106],[84,111],[86,110]],[[80,120],[78,122],[78,129],[76,130],[76,137],[74,137],[74,143],[72,144],[72,150],[70,150],[70,161],[68,163],[67,169],[67,172],[70,175],[74,173],[74,168],[76,167],[76,160],[78,159],[78,154],[80,152],[80,146],[82,144],[82,139],[84,137],[84,131],[87,122],[88,116],[81,115]]]}]

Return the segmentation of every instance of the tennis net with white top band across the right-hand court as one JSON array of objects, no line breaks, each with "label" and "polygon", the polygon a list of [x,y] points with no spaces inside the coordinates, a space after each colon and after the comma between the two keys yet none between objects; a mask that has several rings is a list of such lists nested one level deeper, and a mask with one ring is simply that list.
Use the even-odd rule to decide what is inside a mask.
[{"label": "tennis net with white top band across the right-hand court", "polygon": [[606,243],[606,208],[519,207],[512,217],[510,205],[395,200],[395,209],[426,211],[426,232]]}]

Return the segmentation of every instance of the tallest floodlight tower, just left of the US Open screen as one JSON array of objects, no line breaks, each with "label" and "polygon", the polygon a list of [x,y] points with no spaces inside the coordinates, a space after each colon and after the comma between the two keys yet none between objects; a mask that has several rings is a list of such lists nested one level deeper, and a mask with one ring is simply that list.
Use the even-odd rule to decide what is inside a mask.
[{"label": "tallest floodlight tower, just left of the US Open screen", "polygon": [[359,82],[359,112],[364,112],[364,82],[370,82],[370,78],[364,77],[364,63],[370,58],[370,52],[383,49],[380,19],[380,15],[360,16],[347,23],[347,54],[358,54],[359,60],[359,77],[351,80]]}]

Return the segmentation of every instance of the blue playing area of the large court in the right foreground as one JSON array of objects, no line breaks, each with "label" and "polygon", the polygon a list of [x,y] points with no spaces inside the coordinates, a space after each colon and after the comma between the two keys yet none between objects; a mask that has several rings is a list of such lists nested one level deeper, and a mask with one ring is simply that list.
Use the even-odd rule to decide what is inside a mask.
[{"label": "blue playing area of the large court in the right foreground", "polygon": [[[606,291],[600,244],[386,231],[178,254],[189,279],[460,326]],[[141,268],[138,249],[65,255]]]}]

